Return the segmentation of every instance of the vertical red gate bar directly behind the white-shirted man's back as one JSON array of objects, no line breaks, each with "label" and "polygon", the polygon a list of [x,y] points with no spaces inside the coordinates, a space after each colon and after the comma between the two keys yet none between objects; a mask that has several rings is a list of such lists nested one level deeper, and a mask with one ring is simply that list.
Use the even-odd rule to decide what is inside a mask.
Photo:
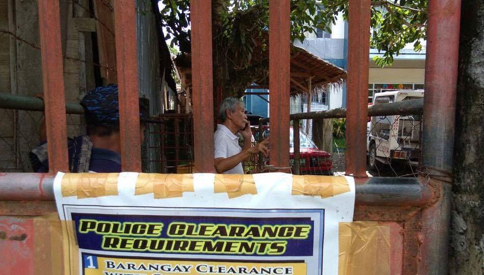
[{"label": "vertical red gate bar directly behind the white-shirted man's back", "polygon": [[195,172],[214,173],[211,1],[192,0],[190,12]]}]

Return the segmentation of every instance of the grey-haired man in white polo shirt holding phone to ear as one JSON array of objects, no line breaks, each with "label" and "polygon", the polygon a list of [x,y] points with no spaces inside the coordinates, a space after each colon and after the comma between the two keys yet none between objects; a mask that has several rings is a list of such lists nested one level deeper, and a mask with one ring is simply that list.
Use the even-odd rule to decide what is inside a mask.
[{"label": "grey-haired man in white polo shirt holding phone to ear", "polygon": [[[244,174],[242,161],[259,152],[268,155],[268,138],[251,147],[250,123],[244,102],[238,98],[228,97],[222,101],[220,119],[222,124],[217,125],[214,134],[215,169],[219,174]],[[244,137],[244,148],[238,145],[237,133]]]}]

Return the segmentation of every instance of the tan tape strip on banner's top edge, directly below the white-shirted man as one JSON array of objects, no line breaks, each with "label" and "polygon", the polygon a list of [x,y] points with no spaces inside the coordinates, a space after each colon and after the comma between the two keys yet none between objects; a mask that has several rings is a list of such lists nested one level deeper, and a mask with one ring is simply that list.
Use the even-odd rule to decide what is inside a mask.
[{"label": "tan tape strip on banner's top edge, directly below the white-shirted man", "polygon": [[252,175],[216,174],[213,192],[226,192],[229,199],[233,199],[247,194],[256,195],[257,188]]}]

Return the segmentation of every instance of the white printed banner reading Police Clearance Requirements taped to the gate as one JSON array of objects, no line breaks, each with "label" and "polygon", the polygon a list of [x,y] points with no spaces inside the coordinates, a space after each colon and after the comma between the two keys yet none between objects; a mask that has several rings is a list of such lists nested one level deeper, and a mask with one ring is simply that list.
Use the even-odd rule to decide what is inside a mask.
[{"label": "white printed banner reading Police Clearance Requirements taped to the gate", "polygon": [[65,274],[337,274],[351,177],[63,174]]}]

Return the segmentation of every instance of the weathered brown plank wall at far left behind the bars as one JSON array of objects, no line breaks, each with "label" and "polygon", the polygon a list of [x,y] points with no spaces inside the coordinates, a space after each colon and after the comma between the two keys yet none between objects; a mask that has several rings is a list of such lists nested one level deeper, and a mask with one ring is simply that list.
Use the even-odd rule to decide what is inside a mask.
[{"label": "weathered brown plank wall at far left behind the bars", "polygon": [[[89,6],[88,0],[81,0],[79,4]],[[93,88],[94,82],[92,62],[86,62],[89,57],[92,59],[90,34],[80,32],[75,22],[86,11],[62,0],[60,12],[63,56],[67,57],[64,59],[66,100],[78,101],[86,90]],[[0,29],[13,33],[0,36],[2,93],[34,96],[43,92],[38,18],[35,0],[0,1]],[[40,142],[38,128],[42,119],[42,112],[0,109],[0,171],[31,171],[28,153]],[[67,116],[69,136],[79,134],[81,125],[81,116]]]}]

